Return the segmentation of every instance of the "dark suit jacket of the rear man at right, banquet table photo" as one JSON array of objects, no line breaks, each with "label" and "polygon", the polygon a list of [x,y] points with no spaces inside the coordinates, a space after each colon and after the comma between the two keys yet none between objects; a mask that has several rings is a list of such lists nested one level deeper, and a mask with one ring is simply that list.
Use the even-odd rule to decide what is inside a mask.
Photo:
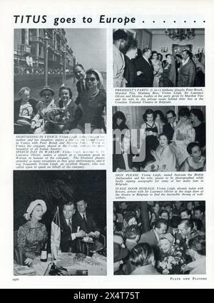
[{"label": "dark suit jacket of the rear man at right, banquet table photo", "polygon": [[79,212],[75,212],[73,215],[73,228],[75,232],[79,227],[79,230],[83,230],[84,232],[95,232],[96,230],[100,232],[99,228],[96,226],[96,222],[93,220],[93,215],[86,211],[86,223],[81,217]]}]

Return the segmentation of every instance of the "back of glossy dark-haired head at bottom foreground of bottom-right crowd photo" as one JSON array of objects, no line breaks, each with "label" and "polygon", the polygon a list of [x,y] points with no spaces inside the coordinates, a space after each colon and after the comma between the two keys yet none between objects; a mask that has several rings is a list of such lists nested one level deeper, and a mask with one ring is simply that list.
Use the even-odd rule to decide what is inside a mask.
[{"label": "back of glossy dark-haired head at bottom foreground of bottom-right crowd photo", "polygon": [[148,243],[139,243],[130,252],[129,260],[136,269],[131,274],[158,274],[153,249]]}]

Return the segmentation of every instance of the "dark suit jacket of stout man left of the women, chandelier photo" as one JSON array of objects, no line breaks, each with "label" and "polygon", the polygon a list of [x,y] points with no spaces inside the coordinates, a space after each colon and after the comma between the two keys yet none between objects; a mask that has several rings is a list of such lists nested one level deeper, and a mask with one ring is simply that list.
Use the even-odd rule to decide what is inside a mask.
[{"label": "dark suit jacket of stout man left of the women, chandelier photo", "polygon": [[151,61],[149,63],[143,58],[143,56],[138,57],[134,61],[136,70],[141,71],[141,75],[137,76],[137,87],[152,87],[153,86],[153,64]]}]

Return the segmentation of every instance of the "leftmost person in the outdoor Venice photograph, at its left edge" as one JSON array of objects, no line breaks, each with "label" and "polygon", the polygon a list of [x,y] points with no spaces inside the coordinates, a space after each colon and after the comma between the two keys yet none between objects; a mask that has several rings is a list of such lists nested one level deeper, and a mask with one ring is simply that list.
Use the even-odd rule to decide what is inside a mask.
[{"label": "leftmost person in the outdoor Venice photograph, at its left edge", "polygon": [[36,113],[36,100],[30,97],[31,89],[23,87],[19,91],[19,100],[14,103],[14,133],[29,133],[31,120]]}]

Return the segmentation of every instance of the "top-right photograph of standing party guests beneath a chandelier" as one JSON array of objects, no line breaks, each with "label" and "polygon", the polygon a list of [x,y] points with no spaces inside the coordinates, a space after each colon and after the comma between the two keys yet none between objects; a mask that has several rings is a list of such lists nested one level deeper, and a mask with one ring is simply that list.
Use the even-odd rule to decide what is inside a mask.
[{"label": "top-right photograph of standing party guests beneath a chandelier", "polygon": [[113,30],[113,87],[205,86],[204,29]]}]

